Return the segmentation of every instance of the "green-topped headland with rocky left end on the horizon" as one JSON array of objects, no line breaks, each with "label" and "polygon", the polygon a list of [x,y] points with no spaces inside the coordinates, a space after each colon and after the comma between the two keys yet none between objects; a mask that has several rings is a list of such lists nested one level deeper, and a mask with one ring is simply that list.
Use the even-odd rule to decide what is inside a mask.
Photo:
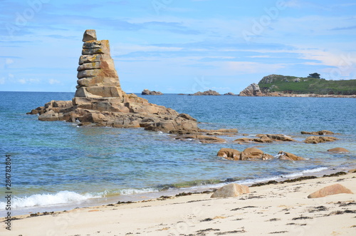
[{"label": "green-topped headland with rocky left end on the horizon", "polygon": [[308,77],[269,75],[252,83],[241,91],[239,96],[354,96],[356,80],[327,81],[320,74],[311,73]]}]

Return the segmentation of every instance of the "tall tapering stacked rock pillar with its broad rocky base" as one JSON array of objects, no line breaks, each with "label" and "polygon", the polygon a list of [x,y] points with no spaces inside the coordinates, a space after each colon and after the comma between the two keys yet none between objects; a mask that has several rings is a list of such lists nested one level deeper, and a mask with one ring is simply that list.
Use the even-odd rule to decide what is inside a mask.
[{"label": "tall tapering stacked rock pillar with its broad rocky base", "polygon": [[165,133],[198,130],[197,120],[191,116],[122,91],[109,41],[98,41],[95,30],[85,31],[83,42],[72,101],[51,101],[28,114],[39,114],[39,120],[80,122],[78,125],[143,127]]}]

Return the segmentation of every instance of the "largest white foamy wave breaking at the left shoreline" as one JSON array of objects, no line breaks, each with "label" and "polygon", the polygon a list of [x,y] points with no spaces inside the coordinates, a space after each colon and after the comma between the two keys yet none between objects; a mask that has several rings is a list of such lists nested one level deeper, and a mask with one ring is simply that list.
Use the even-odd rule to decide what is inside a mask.
[{"label": "largest white foamy wave breaking at the left shoreline", "polygon": [[[100,195],[91,195],[86,193],[80,195],[79,193],[70,191],[61,191],[56,194],[35,194],[29,197],[14,197],[11,202],[11,207],[14,209],[23,207],[37,207],[65,204],[71,202],[83,202],[90,198],[100,197]],[[6,207],[6,202],[0,202],[0,209]]]}]

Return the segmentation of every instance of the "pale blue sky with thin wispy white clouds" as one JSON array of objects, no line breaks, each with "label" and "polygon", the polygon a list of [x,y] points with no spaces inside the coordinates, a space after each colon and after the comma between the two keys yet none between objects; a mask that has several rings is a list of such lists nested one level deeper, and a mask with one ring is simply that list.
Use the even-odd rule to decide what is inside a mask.
[{"label": "pale blue sky with thin wispy white clouds", "polygon": [[0,91],[75,92],[86,29],[127,93],[356,78],[355,0],[0,0]]}]

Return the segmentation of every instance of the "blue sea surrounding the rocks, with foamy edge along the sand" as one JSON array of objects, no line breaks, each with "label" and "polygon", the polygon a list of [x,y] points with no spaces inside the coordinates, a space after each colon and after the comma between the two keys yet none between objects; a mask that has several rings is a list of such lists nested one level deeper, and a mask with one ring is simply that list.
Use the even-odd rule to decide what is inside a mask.
[{"label": "blue sea surrounding the rocks, with foamy edge along the sand", "polygon": [[[0,92],[0,216],[7,212],[9,193],[11,215],[23,215],[199,192],[227,183],[250,185],[322,175],[356,166],[355,98],[142,96],[197,118],[199,128],[239,130],[232,137],[220,137],[226,143],[212,144],[175,140],[174,135],[143,128],[82,127],[26,115],[48,101],[68,101],[73,96]],[[308,135],[300,131],[318,130],[331,130],[338,140],[303,143]],[[261,133],[288,135],[298,142],[233,142]],[[271,155],[283,150],[306,160],[233,161],[216,156],[220,148],[251,147]],[[328,153],[337,147],[350,153]],[[6,155],[11,155],[11,163],[6,163]],[[7,179],[6,165],[11,165]],[[9,189],[6,180],[11,181]]]}]

